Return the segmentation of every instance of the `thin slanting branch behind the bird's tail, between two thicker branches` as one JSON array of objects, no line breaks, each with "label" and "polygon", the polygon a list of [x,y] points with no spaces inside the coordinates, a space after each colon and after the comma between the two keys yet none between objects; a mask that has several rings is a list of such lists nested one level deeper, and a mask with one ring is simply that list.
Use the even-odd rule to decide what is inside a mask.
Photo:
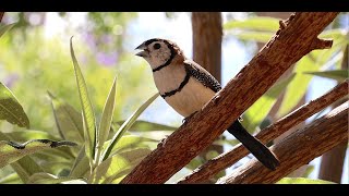
[{"label": "thin slanting branch behind the bird's tail, between two thicker branches", "polygon": [[[278,120],[274,124],[262,130],[256,135],[256,137],[264,144],[275,139],[291,127],[305,121],[311,115],[320,112],[322,109],[328,107],[336,100],[348,95],[348,83],[349,82],[347,79],[329,90],[327,94],[310,101],[306,105],[303,105],[302,107]],[[193,171],[192,174],[185,176],[179,183],[201,183],[207,181],[209,177],[214,176],[219,171],[234,164],[238,160],[245,157],[246,155],[249,155],[248,149],[244,148],[241,144],[237,145],[230,151],[207,161],[207,163]]]}]

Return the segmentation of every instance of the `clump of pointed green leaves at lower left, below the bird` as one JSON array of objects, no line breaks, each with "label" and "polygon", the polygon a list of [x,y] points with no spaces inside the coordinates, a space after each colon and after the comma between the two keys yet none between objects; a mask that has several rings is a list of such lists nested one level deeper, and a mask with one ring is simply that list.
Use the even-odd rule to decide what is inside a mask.
[{"label": "clump of pointed green leaves at lower left, below the bird", "polygon": [[[80,114],[81,112],[75,110],[70,103],[58,99],[51,93],[48,93],[51,98],[51,109],[53,111],[59,135],[28,130],[4,134],[3,137],[5,138],[13,137],[16,139],[20,138],[20,140],[31,138],[32,136],[46,138],[31,140],[23,145],[12,142],[0,142],[0,150],[7,151],[1,152],[1,167],[11,163],[16,172],[16,174],[10,173],[7,175],[5,179],[8,180],[4,181],[4,183],[15,182],[19,177],[24,183],[117,183],[151,151],[148,146],[154,145],[153,143],[157,142],[137,135],[123,135],[129,131],[132,124],[136,122],[140,114],[157,98],[158,94],[151,97],[149,100],[142,105],[123,122],[118,132],[113,133],[111,125],[117,97],[115,79],[108,98],[104,103],[105,107],[97,128],[95,125],[97,124],[97,119],[94,115],[95,111],[92,106],[93,100],[88,97],[87,83],[85,83],[85,78],[79,66],[72,42],[71,58],[73,59],[77,90],[80,93],[83,111],[82,115]],[[147,125],[149,124],[152,125],[152,123],[147,123]],[[166,126],[156,124],[156,127]],[[91,139],[83,139],[86,138],[86,136]],[[40,154],[34,154],[40,149],[58,147],[61,145],[72,145],[72,143],[69,142],[52,142],[47,138],[69,138],[76,140],[80,150],[76,150],[77,148],[62,148],[62,150],[51,150],[49,154],[45,154],[45,150],[40,151]],[[89,146],[89,151],[86,150],[85,146]],[[16,148],[23,149],[20,150]],[[12,151],[21,151],[21,154],[16,155],[33,155],[21,159],[20,156],[11,156],[11,149]],[[103,160],[100,157],[101,155],[104,155],[105,158]],[[37,162],[40,163],[38,164]],[[105,170],[106,166],[111,168]],[[106,174],[108,175],[107,179],[100,179],[100,176],[105,176]]]}]

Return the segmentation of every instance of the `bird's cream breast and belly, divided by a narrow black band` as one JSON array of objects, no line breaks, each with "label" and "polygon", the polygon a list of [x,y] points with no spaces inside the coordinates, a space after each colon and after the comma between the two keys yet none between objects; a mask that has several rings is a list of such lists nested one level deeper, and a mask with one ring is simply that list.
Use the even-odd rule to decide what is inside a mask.
[{"label": "bird's cream breast and belly, divided by a narrow black band", "polygon": [[[185,77],[184,66],[166,66],[154,73],[154,82],[159,93],[177,89]],[[210,88],[205,87],[194,77],[190,77],[186,85],[174,95],[166,97],[165,100],[178,113],[184,118],[202,109],[215,95]]]}]

